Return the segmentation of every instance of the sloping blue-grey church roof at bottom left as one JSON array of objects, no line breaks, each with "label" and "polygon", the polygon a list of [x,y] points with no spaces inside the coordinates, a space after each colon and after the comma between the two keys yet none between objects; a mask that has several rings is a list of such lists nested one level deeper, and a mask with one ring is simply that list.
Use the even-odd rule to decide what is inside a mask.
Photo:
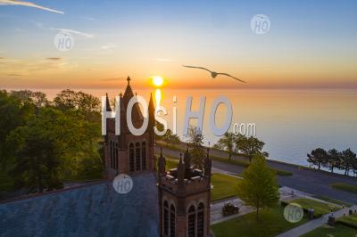
[{"label": "sloping blue-grey church roof at bottom left", "polygon": [[154,173],[119,194],[112,182],[0,204],[1,236],[159,236]]}]

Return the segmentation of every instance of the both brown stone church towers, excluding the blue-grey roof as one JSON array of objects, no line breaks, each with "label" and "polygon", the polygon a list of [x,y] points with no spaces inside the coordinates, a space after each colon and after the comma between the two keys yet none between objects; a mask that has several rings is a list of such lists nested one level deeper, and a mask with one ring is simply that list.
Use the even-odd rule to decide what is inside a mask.
[{"label": "both brown stone church towers, excluding the blue-grey roof", "polygon": [[[157,165],[154,156],[154,102],[150,96],[148,127],[143,135],[132,135],[127,125],[129,100],[136,96],[130,86],[120,94],[120,135],[115,135],[115,120],[107,119],[105,135],[105,176],[112,179],[118,174],[141,176],[148,172],[157,178],[159,208],[158,233],[162,237],[210,236],[211,167],[209,151],[204,159],[203,170],[191,167],[189,150],[179,159],[177,168],[165,169],[162,155]],[[106,98],[107,111],[111,111]],[[134,127],[141,127],[144,117],[137,104],[131,113]],[[157,171],[156,171],[157,170]],[[143,197],[145,198],[145,197]],[[137,213],[140,215],[140,213]]]}]

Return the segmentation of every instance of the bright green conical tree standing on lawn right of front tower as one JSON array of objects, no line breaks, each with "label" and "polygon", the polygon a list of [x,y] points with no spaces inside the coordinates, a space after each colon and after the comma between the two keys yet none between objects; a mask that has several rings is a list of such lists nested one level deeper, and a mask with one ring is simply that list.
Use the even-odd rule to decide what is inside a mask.
[{"label": "bright green conical tree standing on lawn right of front tower", "polygon": [[268,168],[262,155],[255,154],[252,164],[243,172],[243,179],[238,183],[238,193],[246,205],[256,208],[257,219],[260,208],[269,208],[278,202],[276,175]]}]

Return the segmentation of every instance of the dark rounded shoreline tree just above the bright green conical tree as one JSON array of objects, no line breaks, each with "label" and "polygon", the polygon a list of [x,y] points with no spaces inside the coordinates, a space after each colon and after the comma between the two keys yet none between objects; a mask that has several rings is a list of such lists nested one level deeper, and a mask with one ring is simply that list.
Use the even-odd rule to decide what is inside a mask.
[{"label": "dark rounded shoreline tree just above the bright green conical tree", "polygon": [[241,135],[237,137],[236,146],[238,151],[241,151],[249,159],[249,163],[252,163],[254,155],[261,155],[263,157],[268,157],[268,152],[262,151],[265,143],[256,137],[250,136],[246,137]]}]

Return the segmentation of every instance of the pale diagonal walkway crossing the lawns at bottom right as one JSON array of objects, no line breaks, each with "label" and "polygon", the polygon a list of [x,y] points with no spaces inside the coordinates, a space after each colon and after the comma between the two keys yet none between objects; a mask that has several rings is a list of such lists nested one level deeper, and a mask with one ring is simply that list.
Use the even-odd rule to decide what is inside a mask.
[{"label": "pale diagonal walkway crossing the lawns at bottom right", "polygon": [[[351,208],[344,208],[344,209],[340,209],[334,212],[334,217],[338,218],[338,217],[343,217],[344,213],[348,213],[349,209],[357,209],[357,205],[354,205]],[[277,235],[277,237],[297,237],[297,236],[301,236],[304,233],[309,233],[312,230],[320,227],[321,225],[327,224],[328,223],[328,217],[330,216],[330,214],[326,214],[320,218],[311,220],[308,223],[305,223],[303,225],[299,225],[297,227],[295,227],[294,229],[291,229],[289,231],[287,231],[286,233],[281,233],[279,235]]]}]

